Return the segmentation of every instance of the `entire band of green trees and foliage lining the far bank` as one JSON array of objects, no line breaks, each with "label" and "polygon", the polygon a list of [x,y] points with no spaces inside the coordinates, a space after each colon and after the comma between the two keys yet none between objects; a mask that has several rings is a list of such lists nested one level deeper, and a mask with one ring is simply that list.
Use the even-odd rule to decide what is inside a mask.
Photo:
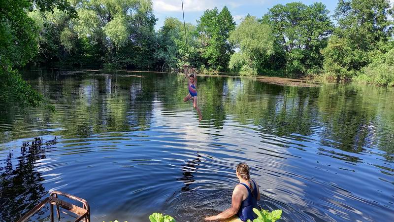
[{"label": "entire band of green trees and foliage lining the far bank", "polygon": [[[155,31],[152,0],[0,1],[1,102],[44,100],[16,69],[69,65],[178,72],[237,72],[393,85],[389,0],[339,0],[336,27],[323,3],[277,4],[236,24],[227,7],[197,24],[173,17]],[[187,43],[186,43],[187,38]]]}]

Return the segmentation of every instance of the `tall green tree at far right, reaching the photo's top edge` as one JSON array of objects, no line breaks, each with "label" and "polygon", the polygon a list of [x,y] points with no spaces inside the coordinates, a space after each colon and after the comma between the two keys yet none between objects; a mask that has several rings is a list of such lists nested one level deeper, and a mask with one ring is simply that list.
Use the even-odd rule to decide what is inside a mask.
[{"label": "tall green tree at far right, reaching the photo's top edge", "polygon": [[339,0],[334,18],[338,27],[322,51],[328,77],[350,79],[371,61],[374,50],[387,52],[393,34],[389,0]]}]

